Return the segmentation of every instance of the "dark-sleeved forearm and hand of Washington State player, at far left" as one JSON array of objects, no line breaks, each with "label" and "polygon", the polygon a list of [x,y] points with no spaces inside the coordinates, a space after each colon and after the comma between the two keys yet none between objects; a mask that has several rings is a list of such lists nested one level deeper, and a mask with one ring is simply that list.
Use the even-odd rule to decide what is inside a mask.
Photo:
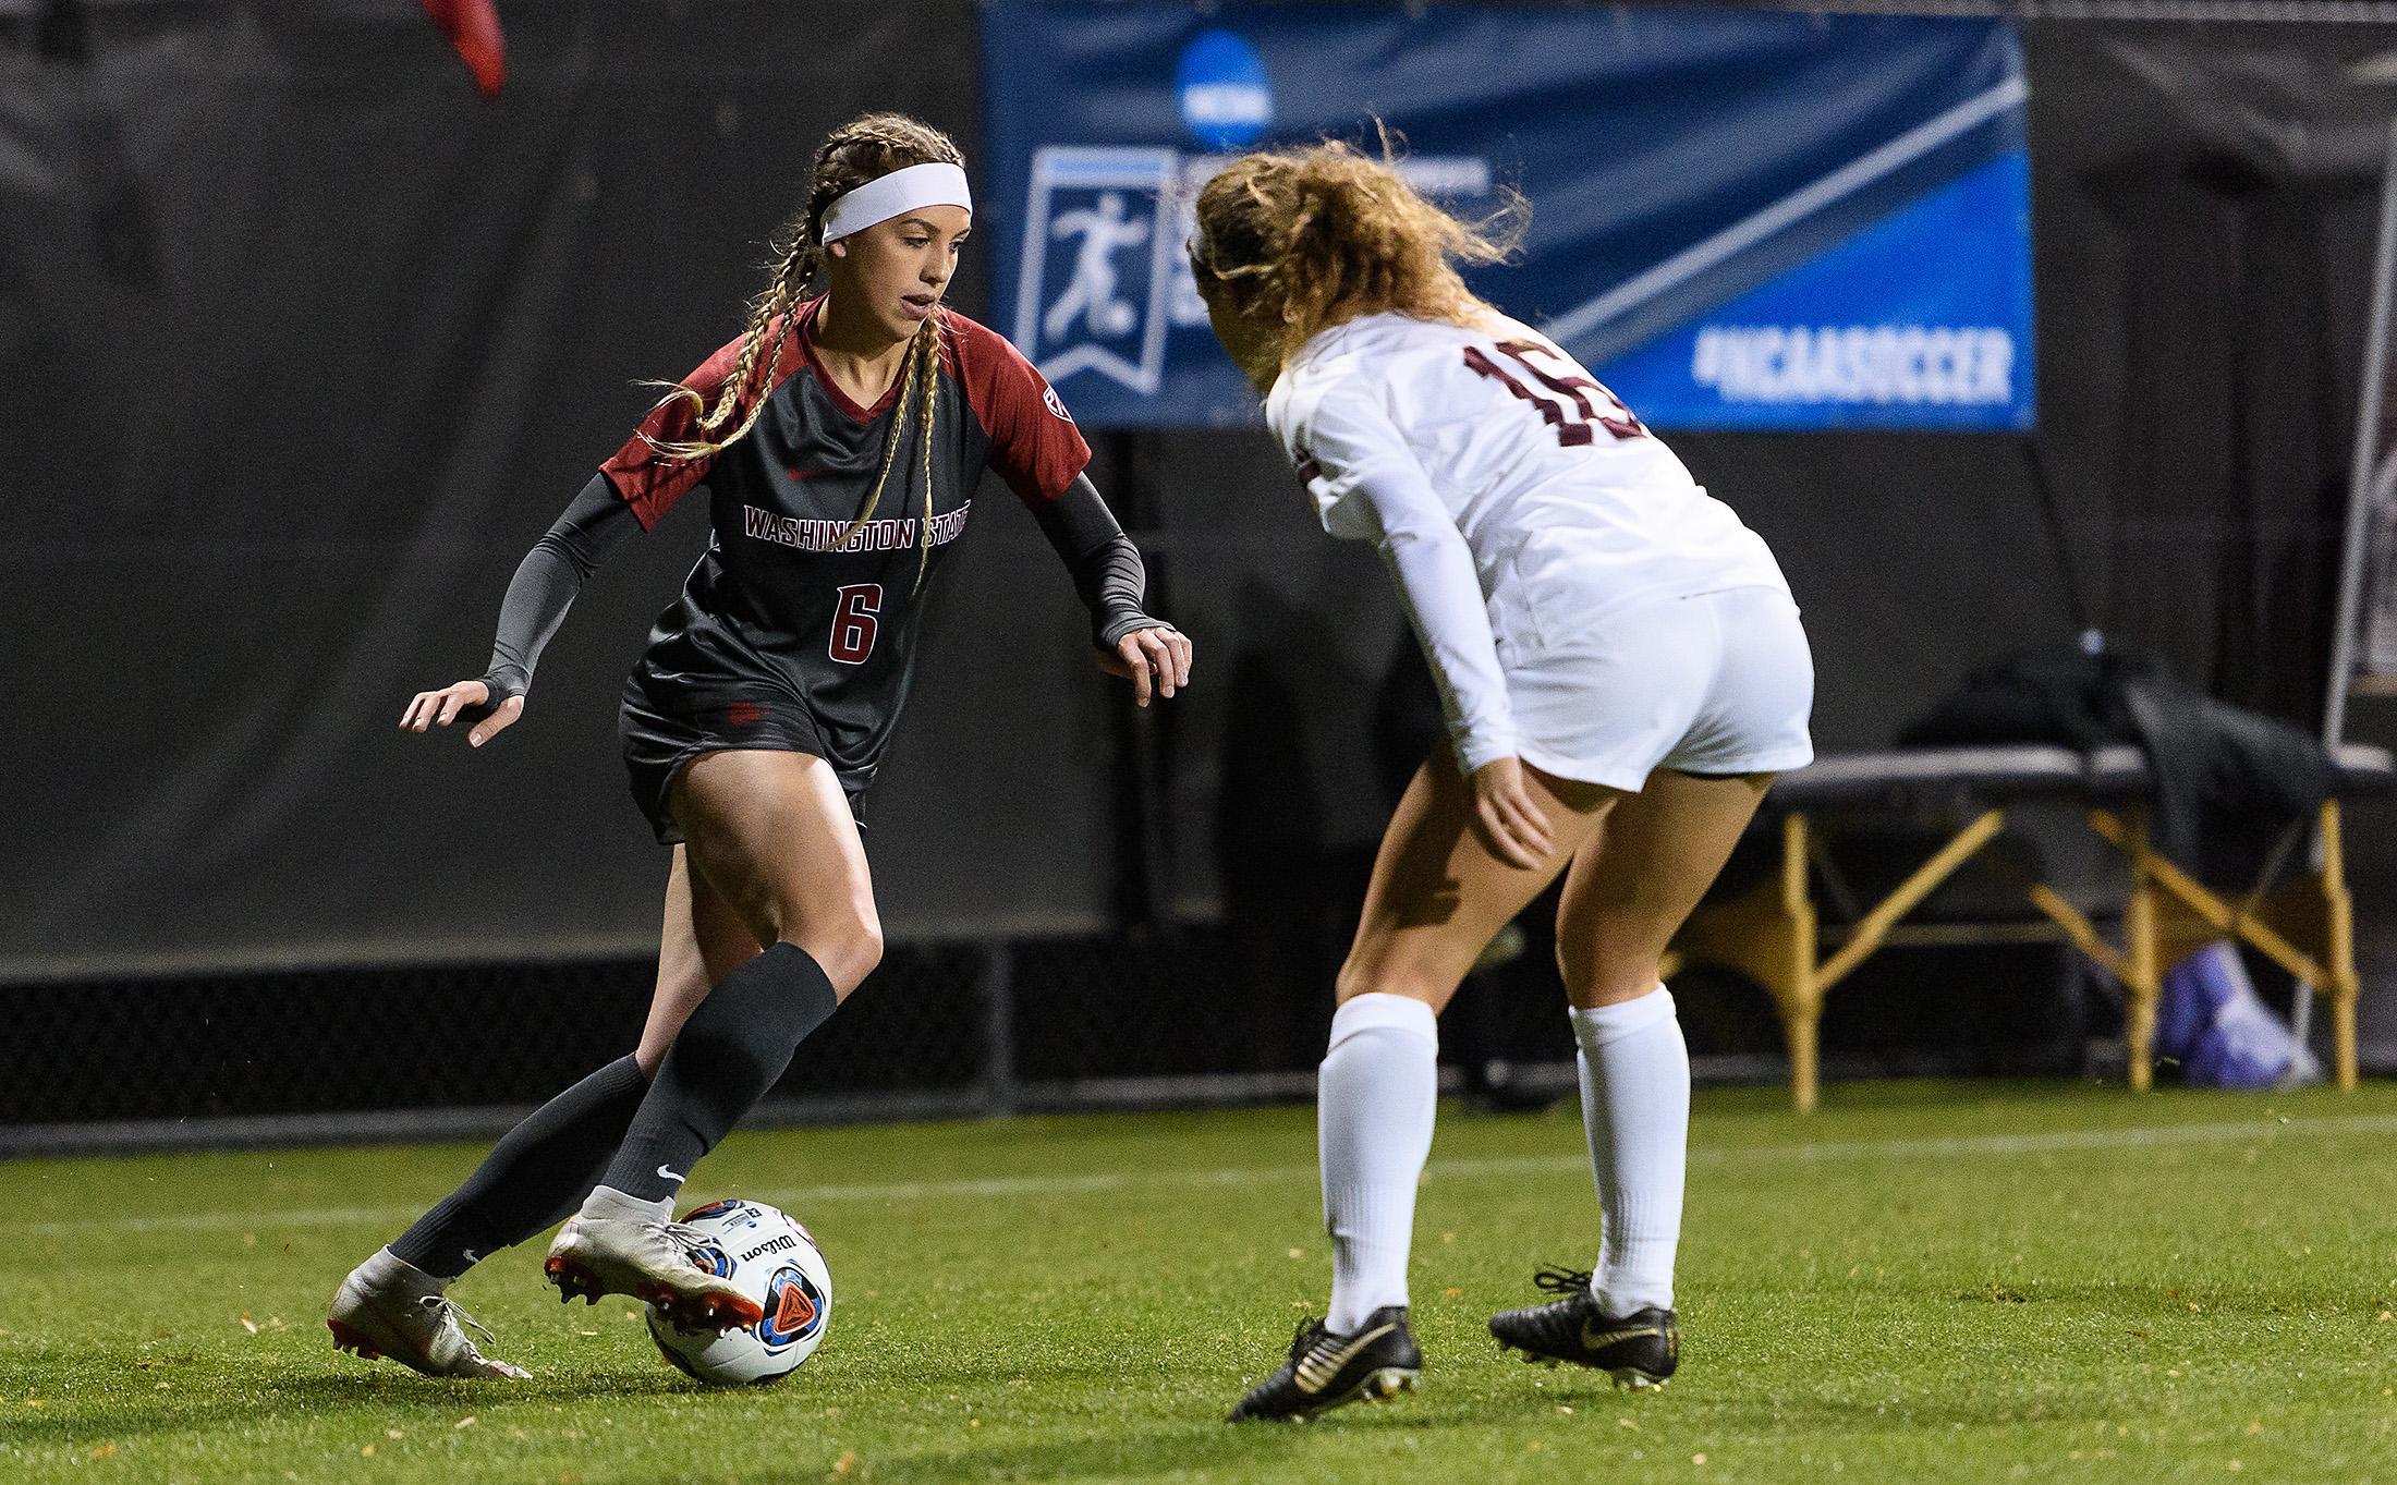
[{"label": "dark-sleeved forearm and hand of Washington State player, at far left", "polygon": [[556,525],[542,532],[508,582],[499,604],[499,632],[491,640],[491,666],[479,680],[453,680],[441,690],[419,690],[400,714],[400,731],[422,733],[453,721],[475,723],[470,747],[482,747],[525,714],[532,690],[532,666],[542,647],[566,623],[582,582],[599,570],[602,558],[640,529],[633,508],[616,493],[606,474],[592,474],[582,493],[566,505]]}]

